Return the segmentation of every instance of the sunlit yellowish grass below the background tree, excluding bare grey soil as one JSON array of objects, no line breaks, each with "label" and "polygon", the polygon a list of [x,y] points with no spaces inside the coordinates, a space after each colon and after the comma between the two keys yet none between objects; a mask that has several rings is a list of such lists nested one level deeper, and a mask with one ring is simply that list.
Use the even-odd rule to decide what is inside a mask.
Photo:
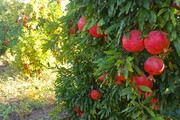
[{"label": "sunlit yellowish grass below the background tree, excluding bare grey soil", "polygon": [[8,119],[14,112],[26,116],[34,109],[54,104],[56,74],[47,70],[27,78],[8,65],[4,67],[0,72],[0,119]]}]

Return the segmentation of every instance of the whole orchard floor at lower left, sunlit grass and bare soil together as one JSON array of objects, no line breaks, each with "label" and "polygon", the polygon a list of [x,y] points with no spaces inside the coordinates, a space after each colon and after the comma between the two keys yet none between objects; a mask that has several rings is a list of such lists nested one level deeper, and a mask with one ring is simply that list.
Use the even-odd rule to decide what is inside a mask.
[{"label": "whole orchard floor at lower left, sunlit grass and bare soil together", "polygon": [[[57,108],[55,78],[42,74],[41,79],[23,79],[15,71],[0,58],[0,120],[51,120],[49,115]],[[66,118],[66,112],[60,111],[56,118]]]}]

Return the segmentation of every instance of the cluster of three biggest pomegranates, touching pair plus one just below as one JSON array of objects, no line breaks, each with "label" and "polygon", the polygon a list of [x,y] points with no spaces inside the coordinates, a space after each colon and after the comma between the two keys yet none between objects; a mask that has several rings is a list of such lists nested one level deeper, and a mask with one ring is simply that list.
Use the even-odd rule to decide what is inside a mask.
[{"label": "cluster of three biggest pomegranates, touching pair plus one just below", "polygon": [[140,38],[141,34],[142,32],[139,30],[131,30],[129,40],[124,34],[122,38],[123,47],[129,52],[139,52],[146,48],[149,53],[153,54],[152,57],[146,60],[144,69],[150,74],[148,79],[154,80],[153,75],[160,75],[165,66],[163,60],[157,54],[166,53],[170,41],[168,35],[161,31],[152,31],[146,38]]}]

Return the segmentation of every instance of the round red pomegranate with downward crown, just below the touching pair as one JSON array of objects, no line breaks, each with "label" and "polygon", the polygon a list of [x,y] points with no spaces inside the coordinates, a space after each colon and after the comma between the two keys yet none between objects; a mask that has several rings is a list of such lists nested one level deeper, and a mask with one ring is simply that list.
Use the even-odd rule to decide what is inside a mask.
[{"label": "round red pomegranate with downward crown, just below the touching pair", "polygon": [[164,71],[164,62],[158,56],[149,57],[144,63],[144,69],[150,74],[148,78],[154,80],[153,75],[160,75]]}]

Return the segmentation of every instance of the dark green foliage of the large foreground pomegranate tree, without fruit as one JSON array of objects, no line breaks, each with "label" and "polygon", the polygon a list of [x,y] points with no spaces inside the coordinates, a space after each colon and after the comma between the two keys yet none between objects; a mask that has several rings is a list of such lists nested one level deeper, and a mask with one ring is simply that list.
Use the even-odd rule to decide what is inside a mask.
[{"label": "dark green foliage of the large foreground pomegranate tree, without fruit", "polygon": [[[180,20],[179,10],[171,6],[170,0],[70,0],[67,14],[59,19],[63,24],[59,43],[59,61],[67,63],[67,68],[59,68],[56,94],[59,102],[73,119],[84,120],[163,120],[179,119],[180,116]],[[178,4],[178,1],[177,1]],[[82,32],[70,34],[69,29],[76,27],[78,20],[84,16],[85,25]],[[98,25],[98,33],[105,37],[90,35],[89,29]],[[158,109],[152,109],[153,94],[147,99],[144,92],[130,82],[133,76],[142,75],[144,63],[152,56],[147,50],[128,52],[122,46],[123,34],[129,38],[131,30],[143,32],[145,38],[153,30],[168,34],[172,52],[158,55],[165,63],[165,70],[155,76],[152,88]],[[124,68],[124,71],[122,71]],[[99,78],[105,73],[106,81]],[[116,73],[121,72],[127,81],[115,84]],[[108,75],[107,75],[108,74]],[[143,91],[151,91],[140,87]],[[101,98],[93,100],[91,90],[98,90]],[[74,110],[80,106],[84,112],[81,116]]]}]

